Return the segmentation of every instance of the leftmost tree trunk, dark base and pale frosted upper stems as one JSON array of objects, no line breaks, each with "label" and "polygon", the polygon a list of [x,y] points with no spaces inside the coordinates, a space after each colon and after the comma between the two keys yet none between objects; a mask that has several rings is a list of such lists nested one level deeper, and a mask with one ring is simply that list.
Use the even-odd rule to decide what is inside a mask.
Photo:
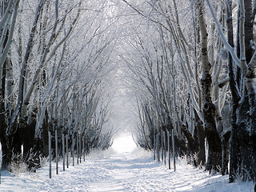
[{"label": "leftmost tree trunk, dark base and pale frosted upper stems", "polygon": [[[7,65],[6,62],[8,59],[7,55],[10,50],[10,44],[13,40],[14,25],[15,25],[17,13],[18,13],[18,4],[19,4],[19,0],[15,2],[12,2],[12,1],[1,2],[1,10],[0,10],[0,17],[2,22],[2,26],[0,26],[1,28],[0,36],[2,39],[0,43],[1,50],[2,50],[0,53],[0,142],[2,145],[2,167],[3,168],[6,168],[10,164],[13,151],[14,153],[16,153],[16,151],[18,150],[17,146],[15,147],[15,149],[13,147],[14,134],[6,135],[6,132],[8,132],[7,131],[8,127],[6,124],[6,117],[5,117],[6,109],[5,109],[5,101],[4,101],[6,97],[5,92],[6,92],[6,65]],[[4,17],[5,15],[6,17]]]}]

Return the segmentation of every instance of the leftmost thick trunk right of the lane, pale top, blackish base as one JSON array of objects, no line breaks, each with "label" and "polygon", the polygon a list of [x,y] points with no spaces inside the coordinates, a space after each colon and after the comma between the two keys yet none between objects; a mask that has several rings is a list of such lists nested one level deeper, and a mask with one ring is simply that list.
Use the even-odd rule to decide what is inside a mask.
[{"label": "leftmost thick trunk right of the lane, pale top, blackish base", "polygon": [[206,170],[216,170],[222,166],[222,146],[218,135],[215,116],[216,106],[211,98],[212,78],[210,75],[211,65],[208,58],[208,40],[206,22],[204,18],[205,10],[203,2],[198,2],[198,22],[201,32],[201,59],[202,59],[202,112],[205,122],[206,138],[209,144]]}]

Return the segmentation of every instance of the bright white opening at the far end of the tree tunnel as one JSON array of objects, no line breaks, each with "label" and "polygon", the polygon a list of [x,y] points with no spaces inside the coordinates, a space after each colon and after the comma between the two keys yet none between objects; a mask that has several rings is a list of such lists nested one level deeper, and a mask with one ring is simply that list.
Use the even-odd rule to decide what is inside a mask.
[{"label": "bright white opening at the far end of the tree tunnel", "polygon": [[130,134],[121,134],[114,139],[112,148],[118,153],[131,152],[136,148],[136,143]]}]

